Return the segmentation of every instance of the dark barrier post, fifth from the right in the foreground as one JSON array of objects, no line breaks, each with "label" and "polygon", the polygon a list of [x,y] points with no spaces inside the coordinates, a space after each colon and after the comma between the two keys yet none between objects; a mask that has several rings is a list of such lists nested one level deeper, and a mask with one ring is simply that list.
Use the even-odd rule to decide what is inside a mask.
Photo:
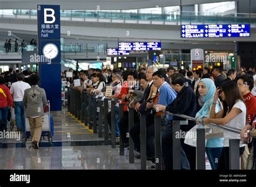
[{"label": "dark barrier post, fifth from the right in the foreground", "polygon": [[140,169],[147,169],[145,114],[140,115]]}]

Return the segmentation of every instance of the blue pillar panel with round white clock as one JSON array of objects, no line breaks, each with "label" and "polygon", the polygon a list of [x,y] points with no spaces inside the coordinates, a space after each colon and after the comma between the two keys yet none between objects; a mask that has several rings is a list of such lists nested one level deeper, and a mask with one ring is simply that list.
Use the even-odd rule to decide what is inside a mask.
[{"label": "blue pillar panel with round white clock", "polygon": [[39,46],[39,55],[51,59],[51,63],[61,61],[60,40],[41,40]]}]

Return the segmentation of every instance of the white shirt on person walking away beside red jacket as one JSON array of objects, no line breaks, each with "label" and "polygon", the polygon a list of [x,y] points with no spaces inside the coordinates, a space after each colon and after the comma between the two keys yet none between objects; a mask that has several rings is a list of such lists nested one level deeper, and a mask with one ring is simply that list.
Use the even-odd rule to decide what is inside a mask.
[{"label": "white shirt on person walking away beside red jacket", "polygon": [[23,81],[12,83],[10,92],[14,95],[14,102],[22,101],[24,97],[24,91],[29,88],[31,88],[30,85]]}]

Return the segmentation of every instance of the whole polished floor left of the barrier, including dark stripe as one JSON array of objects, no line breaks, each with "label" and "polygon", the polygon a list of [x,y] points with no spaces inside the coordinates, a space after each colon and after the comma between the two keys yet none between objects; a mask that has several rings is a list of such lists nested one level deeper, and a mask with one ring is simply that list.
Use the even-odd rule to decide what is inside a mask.
[{"label": "whole polished floor left of the barrier, including dark stripe", "polygon": [[[104,138],[98,138],[65,110],[53,119],[53,147],[47,140],[33,149],[30,140],[22,147],[22,139],[1,139],[0,169],[140,169],[138,159],[129,164],[129,150],[120,156],[118,146],[104,146]],[[150,161],[147,167],[150,169]]]}]

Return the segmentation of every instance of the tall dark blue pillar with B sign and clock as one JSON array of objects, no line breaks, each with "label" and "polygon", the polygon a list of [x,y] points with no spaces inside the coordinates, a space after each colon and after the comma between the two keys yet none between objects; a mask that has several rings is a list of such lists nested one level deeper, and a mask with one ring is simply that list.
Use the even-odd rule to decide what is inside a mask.
[{"label": "tall dark blue pillar with B sign and clock", "polygon": [[51,111],[62,110],[60,6],[37,5],[37,35],[40,85],[50,100]]}]

